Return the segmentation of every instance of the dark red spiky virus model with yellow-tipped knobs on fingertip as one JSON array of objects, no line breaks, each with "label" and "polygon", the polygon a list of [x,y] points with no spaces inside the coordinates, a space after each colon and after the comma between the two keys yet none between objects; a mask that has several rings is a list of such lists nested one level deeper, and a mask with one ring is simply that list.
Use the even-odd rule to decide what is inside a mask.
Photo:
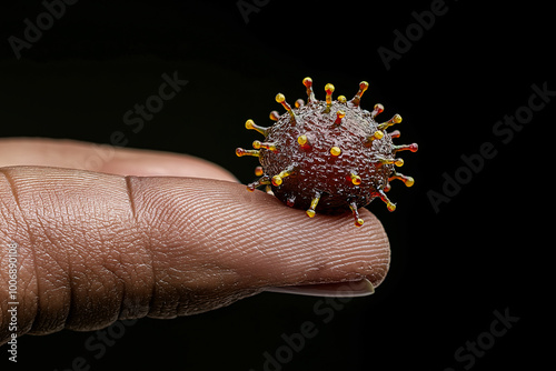
[{"label": "dark red spiky virus model with yellow-tipped knobs on fingertip", "polygon": [[344,96],[332,100],[331,83],[325,87],[324,101],[315,98],[310,78],[304,79],[304,86],[307,103],[299,99],[291,107],[284,94],[276,96],[286,112],[270,112],[270,119],[276,121],[272,127],[259,127],[247,120],[247,129],[265,136],[264,141],[252,143],[252,150],[236,149],[238,157],[258,157],[261,164],[255,169],[260,179],[248,184],[248,190],[266,186],[268,192],[289,207],[305,209],[310,218],[316,212],[351,210],[357,227],[364,222],[358,209],[377,197],[394,211],[396,205],[386,195],[389,182],[414,184],[411,177],[395,170],[404,164],[396,153],[417,151],[417,143],[393,143],[399,131],[386,132],[401,122],[401,117],[395,114],[377,123],[375,118],[384,111],[383,104],[375,104],[371,112],[361,109],[359,103],[369,86],[366,81],[359,83],[359,91],[351,100]]}]

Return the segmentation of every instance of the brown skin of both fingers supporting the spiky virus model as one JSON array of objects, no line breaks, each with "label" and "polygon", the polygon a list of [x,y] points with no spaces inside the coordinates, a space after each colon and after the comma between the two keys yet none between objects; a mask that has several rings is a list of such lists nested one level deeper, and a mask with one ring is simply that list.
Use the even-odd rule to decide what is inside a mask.
[{"label": "brown skin of both fingers supporting the spiky virus model", "polygon": [[360,210],[306,217],[225,169],[172,153],[0,140],[0,344],[8,247],[18,243],[18,335],[199,313],[261,291],[360,295],[389,267]]}]

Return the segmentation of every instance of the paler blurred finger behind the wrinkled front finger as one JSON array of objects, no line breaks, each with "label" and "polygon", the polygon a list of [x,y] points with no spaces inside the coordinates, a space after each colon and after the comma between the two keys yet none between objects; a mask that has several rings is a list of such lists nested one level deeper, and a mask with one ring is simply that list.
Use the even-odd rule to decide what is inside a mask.
[{"label": "paler blurred finger behind the wrinkled front finger", "polygon": [[46,138],[0,139],[0,167],[40,166],[120,176],[171,176],[237,181],[224,168],[187,154]]}]

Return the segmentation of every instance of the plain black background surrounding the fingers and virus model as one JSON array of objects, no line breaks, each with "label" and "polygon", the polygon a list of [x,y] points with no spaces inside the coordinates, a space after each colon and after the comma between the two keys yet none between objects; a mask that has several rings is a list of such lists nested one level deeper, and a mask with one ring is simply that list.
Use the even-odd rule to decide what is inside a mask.
[{"label": "plain black background surrounding the fingers and virus model", "polygon": [[[419,143],[403,153],[416,184],[395,184],[398,209],[369,205],[391,242],[386,281],[342,307],[264,293],[195,317],[143,319],[100,359],[85,347],[98,343],[89,340],[95,332],[23,337],[18,365],[66,370],[83,357],[90,370],[258,371],[282,334],[311,321],[317,335],[284,370],[554,370],[554,102],[508,143],[493,132],[528,104],[533,84],[556,90],[554,6],[446,1],[446,13],[387,70],[377,49],[394,50],[394,31],[405,32],[411,13],[434,1],[258,2],[246,23],[237,1],[81,0],[21,59],[8,38],[23,38],[23,20],[36,23],[44,7],[4,2],[0,136],[110,143],[121,131],[127,147],[199,156],[249,182],[256,161],[234,154],[258,138],[246,119],[270,124],[268,112],[281,109],[276,93],[305,97],[306,76],[320,99],[327,82],[349,98],[367,80],[363,107],[381,102],[385,120],[399,112],[397,142]],[[123,113],[173,71],[189,83],[133,132]],[[460,157],[484,142],[497,154],[435,212],[427,192],[443,192],[443,173],[454,176]],[[338,309],[325,323],[315,305]],[[486,339],[494,311],[506,310],[517,323],[474,364],[458,362],[455,352]]]}]

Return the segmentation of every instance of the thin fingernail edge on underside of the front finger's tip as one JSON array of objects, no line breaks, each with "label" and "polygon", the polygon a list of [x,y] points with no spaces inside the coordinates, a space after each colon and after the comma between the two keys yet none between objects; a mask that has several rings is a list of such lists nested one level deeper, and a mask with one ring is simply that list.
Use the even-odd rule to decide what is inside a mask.
[{"label": "thin fingernail edge on underside of the front finger's tip", "polygon": [[360,281],[338,283],[286,285],[279,288],[268,288],[265,291],[307,297],[355,298],[370,295],[375,292],[375,288],[369,280],[363,279]]}]

